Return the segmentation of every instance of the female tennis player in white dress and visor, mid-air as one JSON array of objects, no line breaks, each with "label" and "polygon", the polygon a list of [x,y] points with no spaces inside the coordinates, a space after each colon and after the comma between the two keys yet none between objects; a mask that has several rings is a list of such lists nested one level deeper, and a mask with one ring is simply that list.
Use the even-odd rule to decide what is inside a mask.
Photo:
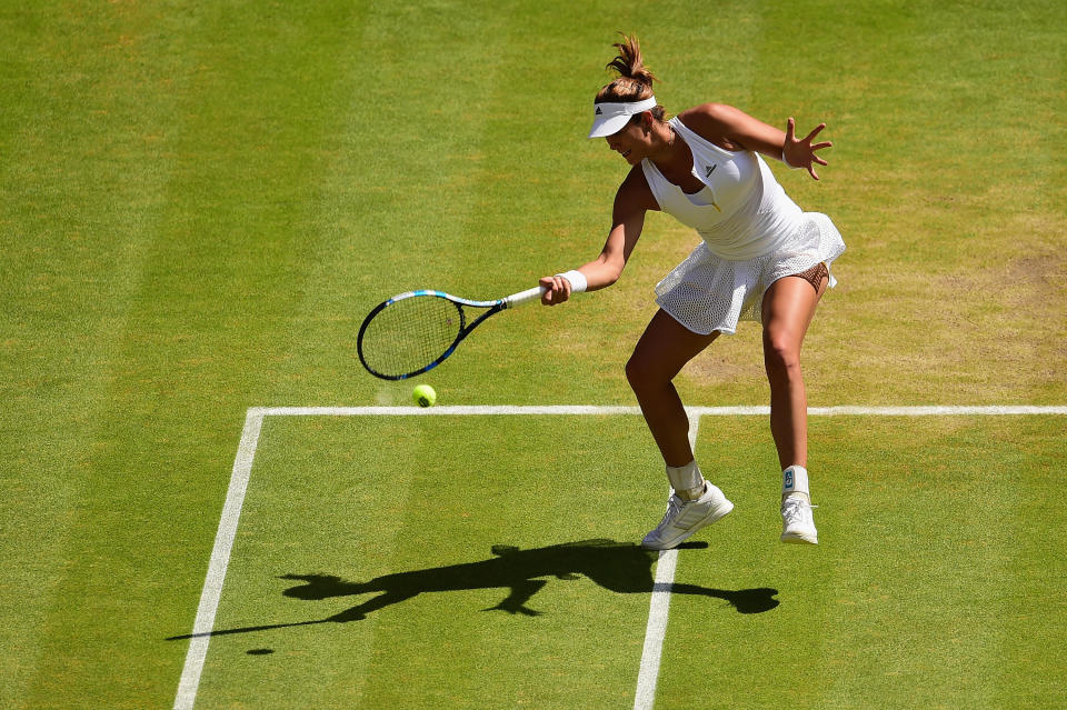
[{"label": "female tennis player in white dress and visor, mid-air", "polygon": [[827,162],[816,151],[831,143],[812,141],[826,124],[797,138],[791,118],[781,131],[719,103],[667,120],[637,38],[615,47],[619,53],[608,68],[619,77],[597,93],[589,138],[604,138],[631,168],[616,193],[600,256],[542,278],[548,291],[541,300],[555,306],[574,292],[615,283],[649,210],[694,228],[702,242],[656,287],[659,310],[626,364],[672,489],[666,516],[642,544],[677,547],[734,508],[694,460],[672,380],[716,338],[735,333],[740,320],[762,324],[770,430],[782,469],[781,540],[816,544],[800,348],[824,291],[835,284],[830,266],[845,243],[829,218],[797,207],[764,158],[818,180],[816,166]]}]

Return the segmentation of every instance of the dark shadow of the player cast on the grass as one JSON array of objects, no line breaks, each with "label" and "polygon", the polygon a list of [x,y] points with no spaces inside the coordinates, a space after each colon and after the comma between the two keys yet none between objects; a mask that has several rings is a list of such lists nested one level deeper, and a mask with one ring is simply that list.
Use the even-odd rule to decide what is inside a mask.
[{"label": "dark shadow of the player cast on the grass", "polygon": [[[690,542],[681,547],[682,549],[701,549],[707,548],[707,543]],[[346,581],[335,574],[283,574],[280,579],[301,582],[282,592],[286,597],[293,599],[317,601],[338,597],[375,596],[326,619],[223,629],[209,633],[171,637],[168,640],[247,633],[313,623],[359,621],[375,611],[428,592],[499,588],[507,590],[507,596],[500,603],[483,611],[505,611],[536,617],[541,612],[528,606],[528,602],[554,579],[570,581],[586,578],[604,589],[621,594],[649,593],[656,586],[652,564],[658,553],[634,543],[584,540],[532,550],[497,544],[492,547],[492,554],[493,557],[478,562],[382,574],[366,582]],[[672,583],[670,591],[675,594],[694,594],[722,600],[739,613],[746,614],[770,611],[779,603],[775,599],[778,590],[768,588],[734,591]]]}]

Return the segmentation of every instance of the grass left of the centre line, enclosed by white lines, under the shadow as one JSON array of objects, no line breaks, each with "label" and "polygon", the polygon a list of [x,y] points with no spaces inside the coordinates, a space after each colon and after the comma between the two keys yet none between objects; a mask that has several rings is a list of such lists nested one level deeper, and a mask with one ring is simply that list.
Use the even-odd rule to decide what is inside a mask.
[{"label": "grass left of the centre line, enclosed by white lines, under the shadow", "polygon": [[[628,460],[652,464],[639,418],[568,418],[565,432],[560,423],[268,420],[217,628],[327,619],[379,593],[286,598],[300,582],[285,574],[340,578],[335,587],[395,574],[379,591],[421,593],[365,620],[217,637],[205,707],[288,707],[297,688],[309,707],[626,704],[632,683],[601,683],[637,677],[655,556],[628,540],[629,528],[642,507],[661,504],[660,491],[637,471],[616,476]],[[610,457],[600,439],[608,424],[631,440]],[[471,452],[465,432],[475,426],[540,452],[537,464]],[[589,492],[610,508],[576,507],[562,487],[552,490],[552,471],[565,467],[588,470]],[[560,544],[571,553],[538,552]],[[500,546],[518,550],[492,551]],[[527,578],[547,581],[521,611],[491,610],[508,597],[501,580]],[[257,648],[275,652],[248,654]]]}]

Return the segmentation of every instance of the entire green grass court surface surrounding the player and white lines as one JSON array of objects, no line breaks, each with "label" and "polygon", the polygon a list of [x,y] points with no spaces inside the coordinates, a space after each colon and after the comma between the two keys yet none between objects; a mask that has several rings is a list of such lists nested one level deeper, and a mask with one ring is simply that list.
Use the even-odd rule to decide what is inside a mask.
[{"label": "entire green grass court surface surrounding the player and white lines", "polygon": [[[807,341],[812,404],[1063,403],[1065,14],[993,1],[702,14],[682,2],[0,3],[0,706],[172,703],[185,644],[166,639],[191,627],[246,409],[407,403],[408,387],[355,361],[370,307],[412,287],[519,290],[599,250],[624,167],[585,141],[586,109],[619,29],[640,33],[672,112],[717,100],[778,124],[828,122],[821,182],[778,170],[849,247]],[[615,288],[500,318],[427,381],[442,404],[632,403],[621,369],[651,287],[694,242],[651,216]],[[680,378],[686,400],[762,403],[758,344],[755,327],[717,342]],[[493,544],[636,540],[661,481],[639,420],[619,421],[499,421],[473,450],[432,424],[412,442],[367,422],[270,422],[220,623],[333,610],[283,597],[278,574],[358,581],[486,560]],[[708,688],[709,703],[1064,704],[1045,680],[1064,660],[1064,570],[1047,542],[1063,527],[1048,479],[1061,424],[814,423],[824,542],[796,551],[774,542],[764,423],[705,421],[708,468],[736,458],[744,480],[769,479],[707,550],[682,553],[680,578],[774,587],[781,606],[742,616],[678,596],[658,707],[686,707],[687,654],[729,677],[715,676],[727,691]],[[386,467],[409,452],[445,468],[409,480]],[[487,484],[509,472],[522,504]],[[417,491],[433,481],[470,518],[425,509]],[[601,493],[610,512],[568,518]],[[399,527],[371,552],[353,508],[380,504]],[[745,510],[761,511],[750,530]],[[861,544],[876,531],[889,542]],[[717,556],[736,572],[698,572]],[[606,707],[631,702],[646,594],[554,581],[535,597],[552,613],[536,618],[477,611],[497,592],[427,597],[368,622],[408,641],[445,624],[440,663],[415,642],[375,646],[362,622],[265,634],[268,656],[247,654],[252,634],[219,637],[202,707],[320,691],[323,706],[385,707],[412,669],[428,687],[448,681],[421,702],[477,707],[478,649],[507,661],[495,697],[566,707],[539,693],[570,689],[589,707],[596,679]],[[686,637],[687,613],[710,614],[710,636]],[[887,629],[893,618],[907,623]],[[770,661],[798,637],[812,678],[786,688]],[[238,698],[242,673],[276,679],[277,702]]]}]

